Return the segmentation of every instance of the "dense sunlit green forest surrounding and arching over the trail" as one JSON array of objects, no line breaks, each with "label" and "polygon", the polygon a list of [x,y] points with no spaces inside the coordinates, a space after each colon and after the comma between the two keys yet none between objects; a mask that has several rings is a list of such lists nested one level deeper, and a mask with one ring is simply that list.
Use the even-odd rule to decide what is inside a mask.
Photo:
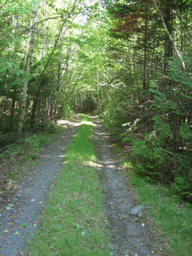
[{"label": "dense sunlit green forest surrounding and arching over the trail", "polygon": [[192,201],[191,3],[1,0],[1,147],[96,113],[136,172]]}]

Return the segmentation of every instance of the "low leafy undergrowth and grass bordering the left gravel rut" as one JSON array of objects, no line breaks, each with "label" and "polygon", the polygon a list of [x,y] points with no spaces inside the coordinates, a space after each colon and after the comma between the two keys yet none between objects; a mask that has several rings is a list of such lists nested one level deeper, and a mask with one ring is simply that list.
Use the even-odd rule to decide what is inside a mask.
[{"label": "low leafy undergrowth and grass bordering the left gravel rut", "polygon": [[40,148],[50,143],[61,129],[63,128],[55,126],[55,133],[52,130],[45,130],[33,135],[26,134],[15,143],[2,148],[3,150],[0,151],[0,202],[9,201],[13,192],[13,183],[31,171]]}]

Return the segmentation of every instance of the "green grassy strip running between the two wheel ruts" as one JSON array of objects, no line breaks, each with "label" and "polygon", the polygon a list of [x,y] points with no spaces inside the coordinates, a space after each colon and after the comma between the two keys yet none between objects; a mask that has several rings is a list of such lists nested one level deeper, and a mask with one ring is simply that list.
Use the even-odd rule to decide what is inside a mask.
[{"label": "green grassy strip running between the two wheel ruts", "polygon": [[27,255],[110,255],[92,129],[91,119],[83,116]]}]

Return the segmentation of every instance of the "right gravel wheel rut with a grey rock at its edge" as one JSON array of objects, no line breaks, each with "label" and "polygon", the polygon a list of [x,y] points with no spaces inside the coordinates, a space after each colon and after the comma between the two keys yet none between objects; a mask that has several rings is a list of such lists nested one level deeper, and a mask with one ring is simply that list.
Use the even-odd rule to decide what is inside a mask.
[{"label": "right gravel wheel rut with a grey rock at its edge", "polygon": [[160,255],[155,250],[162,249],[154,247],[155,245],[149,238],[153,234],[150,234],[144,224],[146,220],[143,221],[141,216],[145,214],[146,208],[137,206],[133,191],[128,187],[127,181],[122,175],[113,149],[109,147],[108,134],[98,119],[95,119],[94,122],[96,124],[94,132],[96,156],[98,164],[102,166],[98,168],[98,172],[102,178],[105,212],[108,227],[111,230],[112,255]]}]

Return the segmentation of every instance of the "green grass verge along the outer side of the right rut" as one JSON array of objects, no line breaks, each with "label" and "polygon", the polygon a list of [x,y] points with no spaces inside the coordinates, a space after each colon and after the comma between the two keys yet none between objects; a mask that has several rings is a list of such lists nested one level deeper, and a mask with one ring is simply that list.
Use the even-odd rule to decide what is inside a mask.
[{"label": "green grass verge along the outer side of the right rut", "polygon": [[[121,151],[121,149],[117,150]],[[174,256],[189,256],[192,252],[192,207],[191,204],[172,194],[162,185],[148,183],[148,180],[134,172],[129,156],[120,153],[125,175],[137,192],[141,204],[150,207],[148,217],[154,229],[160,231],[160,240],[170,247]],[[131,148],[129,148],[129,154]],[[170,255],[167,252],[167,255]]]}]

